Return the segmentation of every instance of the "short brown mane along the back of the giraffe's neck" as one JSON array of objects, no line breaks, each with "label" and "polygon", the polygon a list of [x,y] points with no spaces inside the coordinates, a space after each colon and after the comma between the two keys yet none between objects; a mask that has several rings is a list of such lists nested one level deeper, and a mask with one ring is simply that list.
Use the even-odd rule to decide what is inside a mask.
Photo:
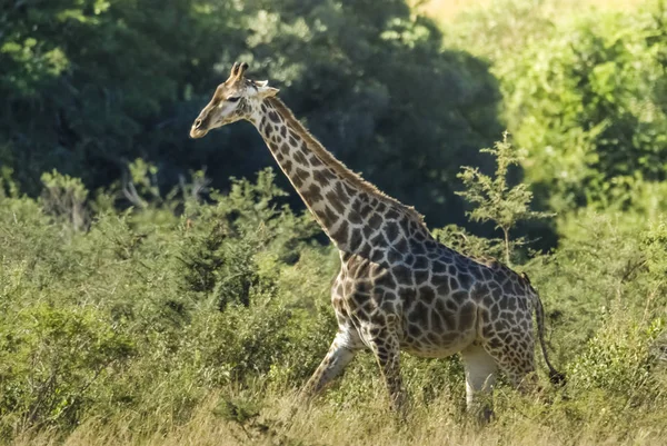
[{"label": "short brown mane along the back of the giraffe's neck", "polygon": [[330,151],[325,149],[320,141],[313,137],[306,127],[295,117],[291,110],[277,97],[271,97],[266,99],[276,110],[278,110],[282,117],[287,120],[287,125],[289,125],[292,129],[297,131],[297,133],[303,138],[306,145],[309,149],[311,149],[315,155],[329,168],[334,169],[334,171],[339,175],[342,179],[349,181],[355,187],[364,190],[367,194],[375,196],[380,199],[388,206],[401,211],[401,214],[407,215],[410,219],[417,221],[424,228],[426,228],[426,224],[424,222],[424,216],[419,214],[414,207],[404,205],[396,198],[388,196],[378,189],[375,185],[368,182],[359,174],[350,170],[346,165],[342,163],[339,159],[337,159]]}]

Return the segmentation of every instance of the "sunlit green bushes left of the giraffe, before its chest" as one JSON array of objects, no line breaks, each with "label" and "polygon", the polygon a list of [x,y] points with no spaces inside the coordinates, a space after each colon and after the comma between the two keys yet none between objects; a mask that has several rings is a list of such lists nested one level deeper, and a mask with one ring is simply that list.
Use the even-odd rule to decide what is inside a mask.
[{"label": "sunlit green bushes left of the giraffe, before its chest", "polygon": [[[150,169],[135,166],[143,194]],[[46,175],[43,194],[89,208],[77,179]],[[207,389],[305,379],[329,341],[317,328],[335,331],[330,308],[313,305],[326,287],[293,295],[302,256],[320,266],[307,266],[311,281],[334,274],[310,241],[312,219],[277,204],[285,192],[270,170],[211,196],[217,202],[153,195],[145,207],[96,215],[87,231],[63,231],[69,214],[46,198],[0,198],[3,433],[128,407],[186,419]]]}]

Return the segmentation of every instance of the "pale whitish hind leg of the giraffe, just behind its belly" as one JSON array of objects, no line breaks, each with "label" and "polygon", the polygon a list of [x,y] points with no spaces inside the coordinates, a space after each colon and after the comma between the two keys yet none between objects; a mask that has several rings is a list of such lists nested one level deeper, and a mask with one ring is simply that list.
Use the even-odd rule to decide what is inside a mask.
[{"label": "pale whitish hind leg of the giraffe, just behind its belly", "polygon": [[496,384],[496,359],[480,345],[461,351],[466,370],[466,406],[470,414],[488,422],[492,415],[491,392]]}]

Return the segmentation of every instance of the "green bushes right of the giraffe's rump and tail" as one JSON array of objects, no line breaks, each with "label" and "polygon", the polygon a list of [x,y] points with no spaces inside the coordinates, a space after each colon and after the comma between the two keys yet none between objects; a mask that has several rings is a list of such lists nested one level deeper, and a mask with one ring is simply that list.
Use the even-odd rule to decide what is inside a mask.
[{"label": "green bushes right of the giraffe's rump and tail", "polygon": [[545,303],[558,359],[580,360],[589,339],[599,336],[606,348],[621,341],[621,331],[641,330],[663,317],[667,250],[659,221],[587,209],[560,218],[559,228],[558,249],[522,268]]}]

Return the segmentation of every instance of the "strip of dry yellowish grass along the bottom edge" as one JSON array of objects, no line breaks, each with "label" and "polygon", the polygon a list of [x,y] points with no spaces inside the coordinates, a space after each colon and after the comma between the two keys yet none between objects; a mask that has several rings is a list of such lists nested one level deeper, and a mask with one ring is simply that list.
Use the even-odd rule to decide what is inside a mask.
[{"label": "strip of dry yellowish grass along the bottom edge", "polygon": [[[293,393],[259,397],[260,415],[243,425],[217,414],[219,396],[199,406],[193,417],[177,425],[166,414],[150,419],[91,419],[64,438],[54,434],[24,434],[12,446],[96,445],[664,445],[663,425],[639,420],[631,430],[609,427],[611,418],[591,405],[586,420],[573,422],[563,407],[549,407],[509,395],[496,422],[480,427],[455,409],[448,396],[417,407],[406,422],[386,410],[384,395],[361,404],[320,400],[300,405]],[[536,409],[537,407],[537,409]],[[569,418],[569,419],[568,419]],[[653,422],[653,423],[651,423]],[[139,426],[139,427],[136,427]],[[655,427],[654,427],[655,426]]]}]

